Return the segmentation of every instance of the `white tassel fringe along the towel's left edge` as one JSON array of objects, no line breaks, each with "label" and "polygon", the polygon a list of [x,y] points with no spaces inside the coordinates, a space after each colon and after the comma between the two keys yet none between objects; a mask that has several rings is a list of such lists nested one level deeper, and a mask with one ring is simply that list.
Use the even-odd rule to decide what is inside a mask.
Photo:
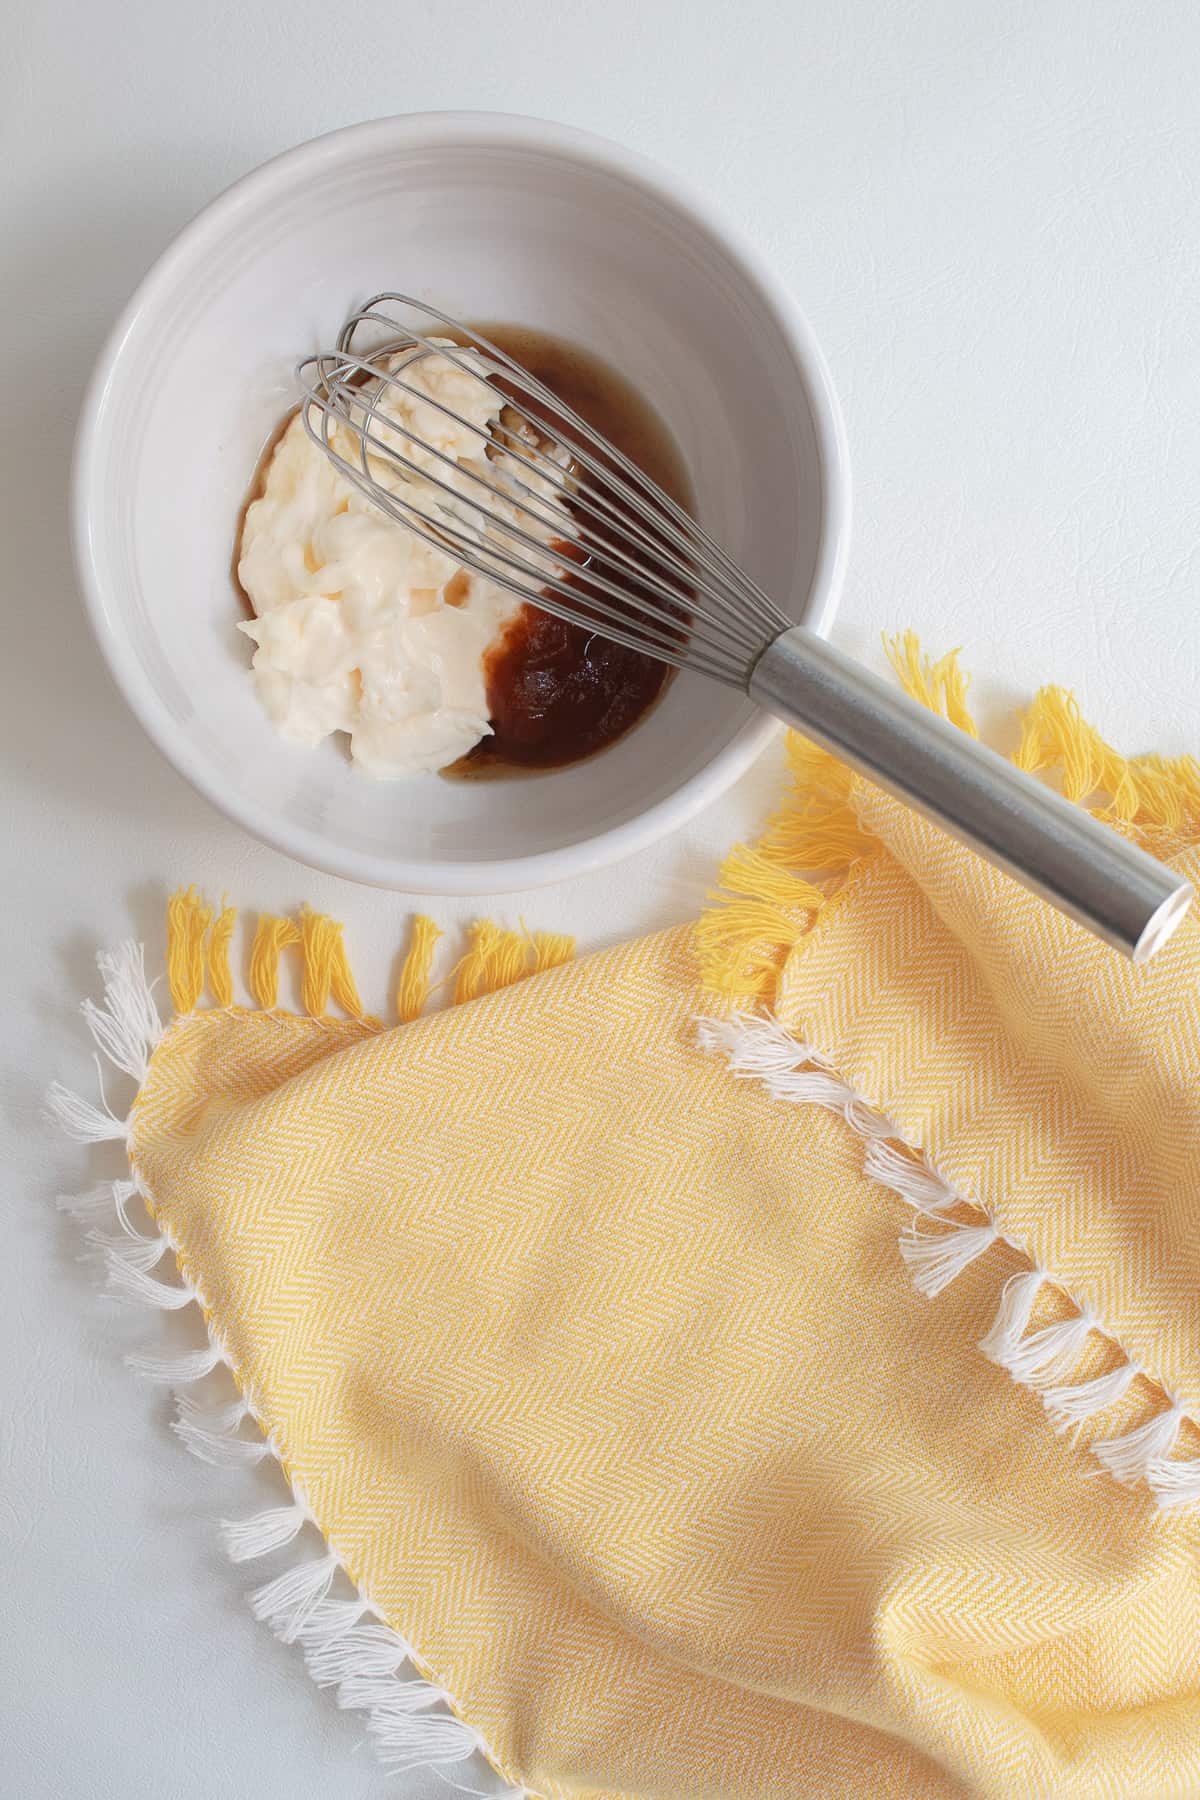
[{"label": "white tassel fringe along the towel's left edge", "polygon": [[[99,956],[97,965],[104,979],[104,1001],[101,1006],[85,1001],[83,1015],[97,1049],[115,1067],[140,1082],[162,1037],[140,945],[126,943],[115,956]],[[47,1096],[52,1120],[68,1138],[79,1143],[113,1141],[128,1147],[130,1121],[117,1118],[108,1107],[103,1080],[101,1100],[103,1105],[95,1107],[58,1082]],[[201,1294],[178,1271],[169,1233],[139,1231],[130,1219],[131,1199],[144,1192],[135,1170],[133,1181],[99,1183],[85,1193],[59,1197],[58,1204],[83,1226],[86,1249],[101,1260],[110,1292],[164,1312],[194,1301],[201,1316],[210,1321],[212,1312],[203,1305]],[[160,1278],[160,1269],[164,1274],[176,1274],[176,1280]],[[230,1375],[234,1372],[232,1359],[216,1339],[210,1323],[209,1343],[203,1348],[175,1355],[130,1355],[126,1363],[148,1381],[171,1388],[187,1388],[221,1366]],[[218,1404],[201,1404],[187,1393],[176,1393],[175,1399],[176,1417],[171,1429],[193,1456],[228,1469],[245,1469],[273,1458],[281,1478],[286,1480],[277,1447],[263,1431],[248,1391],[236,1391]],[[288,1550],[304,1530],[315,1535],[318,1528],[297,1481],[291,1483],[290,1505],[272,1505],[248,1519],[221,1521],[221,1539],[236,1564]],[[385,1622],[374,1602],[354,1588],[333,1544],[327,1541],[322,1544],[317,1557],[295,1561],[250,1593],[254,1616],[270,1625],[284,1643],[300,1645],[317,1685],[336,1688],[338,1706],[365,1712],[367,1735],[385,1769],[435,1771],[448,1795],[529,1800],[525,1787],[497,1786],[482,1795],[479,1787],[461,1784],[446,1773],[473,1755],[484,1757],[493,1769],[498,1766],[479,1732],[459,1717],[450,1694],[416,1672],[412,1645]],[[353,1589],[354,1598],[333,1598],[335,1582]]]}]

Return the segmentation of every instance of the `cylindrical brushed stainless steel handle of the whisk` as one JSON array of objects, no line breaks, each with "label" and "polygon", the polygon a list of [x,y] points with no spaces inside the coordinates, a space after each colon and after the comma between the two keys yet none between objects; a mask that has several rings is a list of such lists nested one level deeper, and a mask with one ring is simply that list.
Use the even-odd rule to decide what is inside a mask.
[{"label": "cylindrical brushed stainless steel handle of the whisk", "polygon": [[804,626],[759,657],[750,698],[1142,963],[1191,882]]}]

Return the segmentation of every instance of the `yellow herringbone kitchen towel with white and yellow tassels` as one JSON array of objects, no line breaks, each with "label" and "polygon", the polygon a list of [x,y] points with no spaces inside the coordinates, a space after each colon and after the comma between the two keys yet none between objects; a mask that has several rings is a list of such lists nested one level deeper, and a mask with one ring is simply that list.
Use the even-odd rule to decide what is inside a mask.
[{"label": "yellow herringbone kitchen towel with white and yellow tassels", "polygon": [[[973,729],[954,661],[896,655]],[[54,1100],[128,1145],[115,1228],[79,1210],[117,1289],[201,1309],[140,1366],[198,1454],[286,1476],[227,1544],[390,1766],[1196,1796],[1200,929],[1133,968],[792,758],[700,925],[581,961],[482,925],[421,1013],[425,922],[390,1030],[315,914],[259,922],[236,1006],[232,913],[176,896],[166,1031],[133,949],[88,1010],[128,1120]],[[1200,875],[1195,763],[1058,689],[1018,758]]]}]

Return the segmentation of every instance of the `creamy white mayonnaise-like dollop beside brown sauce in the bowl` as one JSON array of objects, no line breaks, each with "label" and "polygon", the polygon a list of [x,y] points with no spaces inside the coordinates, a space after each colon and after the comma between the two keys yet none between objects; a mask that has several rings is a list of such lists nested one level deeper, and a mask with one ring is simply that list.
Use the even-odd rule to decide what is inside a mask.
[{"label": "creamy white mayonnaise-like dollop beside brown sauce in the bowl", "polygon": [[[461,470],[489,481],[516,473],[504,454],[484,459],[504,401],[477,374],[435,355],[412,364],[399,355],[389,369],[419,391],[383,396],[396,427],[410,427]],[[468,488],[466,475],[414,450],[403,430],[372,428],[419,468]],[[349,434],[344,454],[356,454]],[[419,475],[407,482],[378,459],[371,472],[416,504],[432,500]],[[524,468],[520,475],[529,479]],[[547,482],[536,488],[543,509],[565,526],[561,499]],[[459,522],[470,526],[473,517],[462,508]],[[520,524],[543,542],[560,535],[527,517]],[[255,689],[282,736],[315,745],[345,731],[354,763],[380,778],[444,769],[488,736],[484,661],[520,601],[374,508],[309,441],[299,414],[270,457],[263,495],[246,508],[237,580],[255,612],[239,626],[255,644]]]}]

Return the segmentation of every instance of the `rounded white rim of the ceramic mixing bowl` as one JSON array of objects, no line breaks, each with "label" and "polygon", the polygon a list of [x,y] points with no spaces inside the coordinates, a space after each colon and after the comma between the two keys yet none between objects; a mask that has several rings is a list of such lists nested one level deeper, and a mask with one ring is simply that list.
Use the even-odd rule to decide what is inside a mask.
[{"label": "rounded white rim of the ceramic mixing bowl", "polygon": [[297,175],[308,173],[315,176],[327,166],[335,166],[351,144],[385,148],[479,144],[549,151],[631,182],[653,198],[666,202],[721,243],[723,250],[738,263],[747,283],[757,288],[808,389],[822,473],[822,533],[802,623],[819,635],[828,635],[837,612],[849,554],[849,455],[842,410],[828,364],[808,319],[783,279],[775,275],[768,261],[741,229],[687,178],[678,176],[673,169],[658,166],[639,151],[628,149],[624,144],[576,126],[525,113],[473,110],[396,113],[383,119],[367,119],[279,151],[210,200],[184,225],[162,256],[151,265],[117,317],[97,356],[76,430],[70,473],[72,547],[76,574],[92,632],[117,688],[155,747],[225,817],[288,857],[295,857],[329,875],[340,875],[374,887],[448,896],[513,893],[522,887],[540,887],[547,882],[585,875],[631,857],[666,832],[693,819],[745,774],[775,736],[779,729],[777,722],[766,713],[754,715],[703,769],[689,776],[664,799],[655,801],[655,805],[633,819],[608,826],[592,837],[583,837],[558,850],[489,862],[437,862],[383,857],[338,848],[329,844],[318,832],[281,826],[270,814],[261,812],[237,792],[228,792],[221,787],[209,774],[203,758],[194,756],[187,743],[182,743],[173,734],[171,720],[153,684],[144,675],[133,648],[121,632],[113,630],[104,610],[103,578],[92,542],[92,513],[104,463],[101,423],[126,340],[137,329],[142,315],[153,310],[171,288],[180,265],[187,265],[196,252],[203,250],[207,241],[219,239],[228,225],[248,207],[261,207],[264,200],[270,200],[273,191],[290,187]]}]

